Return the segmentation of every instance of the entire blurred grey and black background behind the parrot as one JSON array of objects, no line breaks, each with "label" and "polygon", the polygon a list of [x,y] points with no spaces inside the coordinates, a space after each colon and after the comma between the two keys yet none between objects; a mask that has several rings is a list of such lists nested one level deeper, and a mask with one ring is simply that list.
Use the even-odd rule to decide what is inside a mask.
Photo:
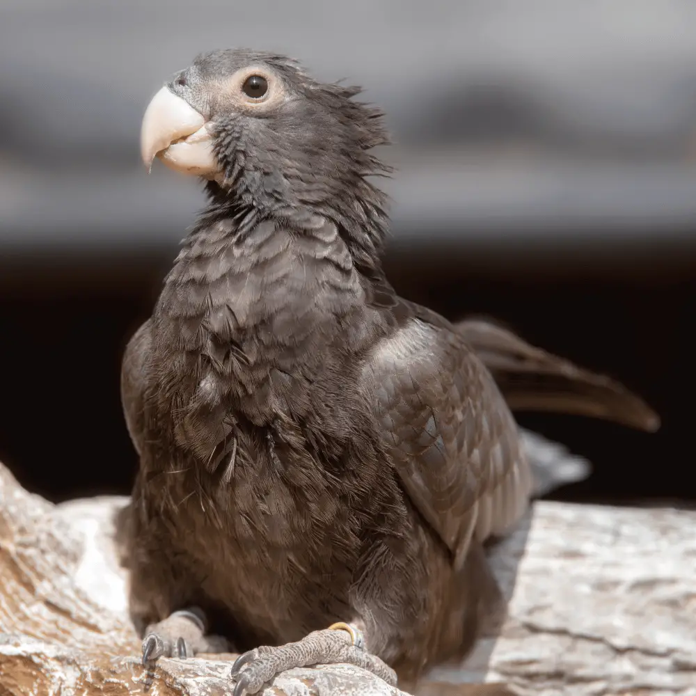
[{"label": "entire blurred grey and black background behind the parrot", "polygon": [[528,427],[590,459],[560,500],[694,505],[696,4],[690,0],[2,0],[0,460],[52,500],[128,493],[125,342],[203,205],[139,161],[198,52],[285,52],[362,84],[395,136],[388,274],[606,372],[658,434]]}]

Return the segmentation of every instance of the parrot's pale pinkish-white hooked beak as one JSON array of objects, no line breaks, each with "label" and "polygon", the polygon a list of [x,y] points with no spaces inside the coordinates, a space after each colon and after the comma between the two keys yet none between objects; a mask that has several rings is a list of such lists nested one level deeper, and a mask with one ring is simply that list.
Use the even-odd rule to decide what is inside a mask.
[{"label": "parrot's pale pinkish-white hooked beak", "polygon": [[145,109],[140,151],[148,171],[157,156],[175,171],[206,179],[215,179],[220,174],[205,118],[166,86],[152,97]]}]

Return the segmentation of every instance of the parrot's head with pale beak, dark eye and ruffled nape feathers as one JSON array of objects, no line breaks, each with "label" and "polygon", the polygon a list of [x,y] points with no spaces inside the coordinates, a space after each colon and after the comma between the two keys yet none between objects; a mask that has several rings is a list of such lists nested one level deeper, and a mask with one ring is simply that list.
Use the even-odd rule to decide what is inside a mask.
[{"label": "parrot's head with pale beak, dark eye and ruffled nape feathers", "polygon": [[198,56],[152,98],[141,156],[214,182],[252,205],[321,205],[389,168],[381,111],[358,87],[323,84],[299,64],[247,49]]}]

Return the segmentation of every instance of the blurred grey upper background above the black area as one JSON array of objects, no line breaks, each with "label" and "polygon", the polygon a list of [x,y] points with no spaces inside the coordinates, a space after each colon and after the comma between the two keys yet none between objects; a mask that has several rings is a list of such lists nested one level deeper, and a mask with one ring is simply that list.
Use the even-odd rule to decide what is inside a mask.
[{"label": "blurred grey upper background above the black area", "polygon": [[3,0],[0,257],[171,248],[203,198],[145,174],[143,109],[198,52],[239,45],[386,109],[395,248],[693,249],[690,0]]}]

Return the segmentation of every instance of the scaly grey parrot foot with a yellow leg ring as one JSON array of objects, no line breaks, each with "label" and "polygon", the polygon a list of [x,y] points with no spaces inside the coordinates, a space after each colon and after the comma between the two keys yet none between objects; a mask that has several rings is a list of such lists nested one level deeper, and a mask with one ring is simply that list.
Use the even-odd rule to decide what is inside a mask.
[{"label": "scaly grey parrot foot with a yellow leg ring", "polygon": [[262,645],[240,655],[230,675],[237,681],[234,696],[255,694],[276,674],[293,667],[340,663],[362,667],[390,685],[396,684],[396,672],[367,651],[363,631],[356,623],[338,623],[313,631],[294,643],[279,647]]}]

